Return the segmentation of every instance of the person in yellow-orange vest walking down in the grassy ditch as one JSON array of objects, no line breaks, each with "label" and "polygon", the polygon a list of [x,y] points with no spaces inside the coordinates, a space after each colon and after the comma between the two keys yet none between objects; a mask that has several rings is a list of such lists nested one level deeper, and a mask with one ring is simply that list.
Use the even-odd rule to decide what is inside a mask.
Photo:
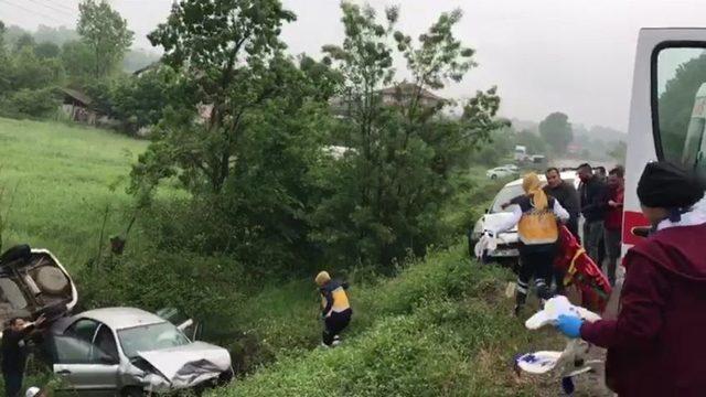
[{"label": "person in yellow-orange vest walking down in the grassy ditch", "polygon": [[339,334],[351,322],[351,304],[345,290],[347,282],[331,280],[329,272],[321,271],[315,278],[321,293],[321,319],[324,323],[323,345],[327,347],[338,344]]}]

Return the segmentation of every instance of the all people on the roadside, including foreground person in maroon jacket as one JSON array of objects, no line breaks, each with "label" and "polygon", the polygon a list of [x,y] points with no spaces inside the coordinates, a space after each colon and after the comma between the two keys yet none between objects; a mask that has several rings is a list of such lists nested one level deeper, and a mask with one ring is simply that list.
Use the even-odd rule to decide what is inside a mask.
[{"label": "all people on the roadside, including foreground person in maroon jacket", "polygon": [[[525,195],[506,224],[515,224],[521,240],[517,303],[524,303],[528,277],[537,294],[548,298],[549,271],[557,218],[573,233],[578,213],[584,216],[584,244],[614,282],[620,256],[623,171],[603,178],[588,164],[579,167],[578,201],[573,186],[547,171],[543,190],[536,174],[523,180]],[[588,322],[559,316],[556,326],[608,350],[606,383],[619,396],[704,396],[706,394],[706,208],[700,204],[706,185],[693,171],[670,162],[649,163],[637,195],[651,228],[628,250],[625,278],[616,319]],[[578,206],[576,203],[578,202]],[[577,210],[578,208],[578,210]],[[601,250],[601,242],[603,250]],[[603,254],[605,253],[605,254]]]}]

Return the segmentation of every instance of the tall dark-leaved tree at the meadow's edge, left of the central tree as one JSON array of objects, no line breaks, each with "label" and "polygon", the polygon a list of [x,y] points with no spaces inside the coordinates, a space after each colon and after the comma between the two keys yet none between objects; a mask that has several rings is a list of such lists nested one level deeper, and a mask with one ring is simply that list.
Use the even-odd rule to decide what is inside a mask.
[{"label": "tall dark-leaved tree at the meadow's edge, left of the central tree", "polygon": [[197,146],[173,157],[190,170],[192,183],[205,179],[220,192],[236,167],[246,167],[234,155],[249,127],[248,112],[282,94],[279,33],[293,20],[279,0],[185,0],[149,34],[164,49],[163,62],[185,74],[195,94],[192,106],[207,109]]}]

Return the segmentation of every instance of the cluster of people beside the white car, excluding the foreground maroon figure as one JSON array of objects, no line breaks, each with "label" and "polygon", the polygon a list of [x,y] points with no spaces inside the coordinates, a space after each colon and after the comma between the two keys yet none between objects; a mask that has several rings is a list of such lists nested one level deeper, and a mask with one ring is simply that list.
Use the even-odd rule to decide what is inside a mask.
[{"label": "cluster of people beside the white car, excluding the foreground maroon figure", "polygon": [[546,170],[544,186],[535,173],[526,174],[522,185],[525,194],[503,204],[503,207],[514,205],[512,216],[488,230],[496,236],[517,226],[521,242],[515,289],[517,315],[525,304],[532,278],[542,299],[564,293],[565,275],[553,267],[559,237],[557,218],[580,240],[579,217],[584,217],[587,254],[598,266],[606,265],[610,283],[616,282],[622,236],[624,170],[618,165],[606,175],[605,168],[593,171],[585,163],[578,167],[577,175],[580,179],[578,190],[561,179],[557,168]]}]

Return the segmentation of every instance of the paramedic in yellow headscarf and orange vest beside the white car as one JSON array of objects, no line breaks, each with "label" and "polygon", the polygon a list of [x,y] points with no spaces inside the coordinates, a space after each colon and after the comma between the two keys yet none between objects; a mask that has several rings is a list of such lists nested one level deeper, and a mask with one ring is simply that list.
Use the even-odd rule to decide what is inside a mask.
[{"label": "paramedic in yellow headscarf and orange vest beside the white car", "polygon": [[554,197],[548,197],[542,190],[542,182],[535,173],[526,174],[522,180],[525,194],[514,201],[512,216],[486,230],[492,236],[517,226],[520,238],[520,272],[515,289],[515,315],[520,315],[527,299],[527,288],[534,276],[537,296],[541,299],[552,298],[550,280],[554,275],[553,262],[557,253],[559,227],[569,219],[569,214]]}]

